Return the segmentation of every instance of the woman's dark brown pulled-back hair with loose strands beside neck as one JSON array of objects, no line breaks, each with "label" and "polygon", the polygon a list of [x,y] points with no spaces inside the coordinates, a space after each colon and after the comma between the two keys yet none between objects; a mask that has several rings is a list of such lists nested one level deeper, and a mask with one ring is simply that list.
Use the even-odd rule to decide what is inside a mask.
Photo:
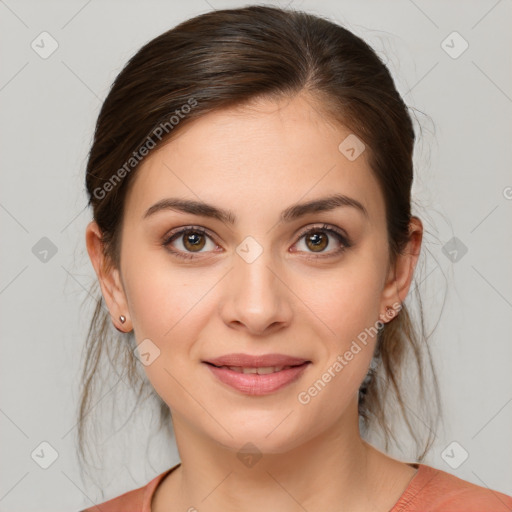
[{"label": "woman's dark brown pulled-back hair with loose strands beside neck", "polygon": [[[177,25],[145,44],[115,79],[97,120],[86,171],[89,205],[111,264],[119,265],[123,206],[144,153],[141,148],[165,144],[187,123],[208,112],[258,99],[291,98],[301,92],[308,93],[326,118],[348,127],[366,145],[385,198],[393,264],[409,240],[415,133],[388,69],[367,43],[340,25],[301,11],[259,5],[212,11]],[[364,432],[373,424],[380,427],[386,449],[393,437],[385,405],[388,391],[393,392],[421,447],[403,396],[402,373],[409,355],[416,363],[414,374],[421,395],[416,412],[419,403],[430,403],[426,398],[433,398],[439,406],[419,293],[418,298],[418,325],[403,304],[399,314],[379,331],[374,361],[359,392],[360,425]],[[96,403],[92,390],[102,354],[106,353],[125,383],[133,389],[139,386],[137,403],[144,391],[156,395],[137,368],[134,346],[133,333],[119,334],[113,328],[100,295],[84,347],[78,411],[82,457],[85,422]],[[433,393],[428,397],[423,350],[433,375],[432,386],[428,386]],[[169,408],[156,399],[161,406],[160,426],[169,426]],[[429,422],[423,418],[423,423]],[[429,427],[419,461],[432,441]]]}]

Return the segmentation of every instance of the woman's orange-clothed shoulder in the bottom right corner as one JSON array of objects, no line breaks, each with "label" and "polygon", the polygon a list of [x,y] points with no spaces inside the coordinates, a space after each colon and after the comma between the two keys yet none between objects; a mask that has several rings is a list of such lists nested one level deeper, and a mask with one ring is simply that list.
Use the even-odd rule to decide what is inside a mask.
[{"label": "woman's orange-clothed shoulder in the bottom right corner", "polygon": [[390,512],[511,512],[512,497],[446,471],[418,464],[418,471]]}]

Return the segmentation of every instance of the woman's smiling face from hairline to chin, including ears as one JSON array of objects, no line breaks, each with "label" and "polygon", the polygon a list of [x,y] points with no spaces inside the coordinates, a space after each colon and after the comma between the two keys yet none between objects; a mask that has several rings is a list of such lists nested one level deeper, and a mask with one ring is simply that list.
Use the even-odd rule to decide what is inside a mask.
[{"label": "woman's smiling face from hairline to chin, including ears", "polygon": [[[123,329],[145,343],[144,369],[175,430],[277,453],[357,417],[375,327],[403,302],[416,259],[390,269],[384,199],[366,152],[348,159],[338,149],[349,135],[305,97],[261,101],[194,121],[137,170],[120,269],[98,275],[113,321],[125,315]],[[290,210],[334,195],[361,207]],[[160,203],[176,198],[232,218]],[[226,384],[204,362],[232,353],[309,363],[258,392]]]}]

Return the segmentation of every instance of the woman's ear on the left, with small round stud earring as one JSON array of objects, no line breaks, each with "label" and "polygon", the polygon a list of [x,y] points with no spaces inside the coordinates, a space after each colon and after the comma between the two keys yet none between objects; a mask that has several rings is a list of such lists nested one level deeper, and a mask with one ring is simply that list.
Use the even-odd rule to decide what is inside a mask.
[{"label": "woman's ear on the left, with small round stud earring", "polygon": [[[101,230],[95,221],[87,225],[85,243],[114,327],[121,332],[131,331],[131,320],[119,270],[105,255]],[[126,318],[124,323],[119,319],[121,315]]]}]

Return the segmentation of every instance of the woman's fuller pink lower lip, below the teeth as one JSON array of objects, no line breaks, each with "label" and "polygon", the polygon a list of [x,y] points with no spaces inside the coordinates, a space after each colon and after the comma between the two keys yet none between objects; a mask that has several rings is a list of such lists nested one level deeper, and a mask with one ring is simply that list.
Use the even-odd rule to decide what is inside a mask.
[{"label": "woman's fuller pink lower lip, below the teeth", "polygon": [[304,363],[280,372],[258,375],[257,373],[235,372],[229,368],[217,368],[208,363],[204,364],[221,382],[247,395],[266,395],[278,391],[297,380],[309,365],[309,363]]}]

